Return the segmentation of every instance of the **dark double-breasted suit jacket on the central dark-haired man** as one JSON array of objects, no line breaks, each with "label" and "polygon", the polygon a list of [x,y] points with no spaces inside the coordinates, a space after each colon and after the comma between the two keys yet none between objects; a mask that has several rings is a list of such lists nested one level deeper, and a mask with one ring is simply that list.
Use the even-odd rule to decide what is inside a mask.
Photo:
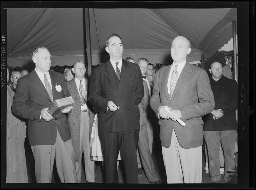
[{"label": "dark double-breasted suit jacket on the central dark-haired man", "polygon": [[[89,102],[99,111],[99,132],[124,132],[140,129],[138,104],[144,95],[142,75],[137,64],[122,60],[118,79],[110,60],[95,67],[89,85]],[[120,106],[111,112],[108,101]]]}]

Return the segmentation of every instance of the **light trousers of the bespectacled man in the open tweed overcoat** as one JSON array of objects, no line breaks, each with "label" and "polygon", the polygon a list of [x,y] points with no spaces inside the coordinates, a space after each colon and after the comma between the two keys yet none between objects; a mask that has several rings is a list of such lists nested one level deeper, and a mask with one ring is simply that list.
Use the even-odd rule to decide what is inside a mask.
[{"label": "light trousers of the bespectacled man in the open tweed overcoat", "polygon": [[76,173],[78,183],[82,178],[82,154],[84,151],[84,169],[85,179],[89,182],[95,182],[94,161],[90,155],[90,132],[89,132],[88,112],[81,112],[80,117],[80,144],[79,144],[79,162],[76,162]]}]

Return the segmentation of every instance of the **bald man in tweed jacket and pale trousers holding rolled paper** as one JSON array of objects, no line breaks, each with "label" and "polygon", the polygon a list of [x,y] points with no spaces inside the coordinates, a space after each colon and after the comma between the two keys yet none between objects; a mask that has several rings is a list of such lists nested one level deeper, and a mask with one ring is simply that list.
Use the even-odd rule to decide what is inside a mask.
[{"label": "bald man in tweed jacket and pale trousers holding rolled paper", "polygon": [[[168,183],[202,182],[202,115],[214,108],[209,77],[186,62],[190,42],[172,41],[173,64],[156,72],[150,106],[158,115]],[[185,122],[183,127],[177,120]]]}]

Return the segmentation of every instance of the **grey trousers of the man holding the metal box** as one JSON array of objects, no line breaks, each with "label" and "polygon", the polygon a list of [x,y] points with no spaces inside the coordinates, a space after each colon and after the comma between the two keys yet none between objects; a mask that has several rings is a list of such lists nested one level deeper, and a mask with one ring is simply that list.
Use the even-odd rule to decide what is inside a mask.
[{"label": "grey trousers of the man holding the metal box", "polygon": [[56,142],[53,145],[31,145],[35,158],[37,183],[51,183],[54,158],[61,183],[77,183],[75,151],[72,139],[64,142],[57,130]]}]

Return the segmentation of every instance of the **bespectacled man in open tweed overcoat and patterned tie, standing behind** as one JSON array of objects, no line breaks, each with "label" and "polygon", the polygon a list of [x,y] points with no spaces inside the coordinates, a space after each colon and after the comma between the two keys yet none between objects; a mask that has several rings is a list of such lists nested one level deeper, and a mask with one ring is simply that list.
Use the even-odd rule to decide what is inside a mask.
[{"label": "bespectacled man in open tweed overcoat and patterned tie, standing behind", "polygon": [[75,78],[67,82],[68,91],[74,100],[73,109],[68,114],[68,123],[76,153],[76,173],[78,183],[81,183],[82,154],[84,151],[84,168],[86,183],[94,183],[94,161],[92,161],[90,138],[95,113],[88,104],[88,81],[85,74],[84,61],[76,61],[72,68]]}]

